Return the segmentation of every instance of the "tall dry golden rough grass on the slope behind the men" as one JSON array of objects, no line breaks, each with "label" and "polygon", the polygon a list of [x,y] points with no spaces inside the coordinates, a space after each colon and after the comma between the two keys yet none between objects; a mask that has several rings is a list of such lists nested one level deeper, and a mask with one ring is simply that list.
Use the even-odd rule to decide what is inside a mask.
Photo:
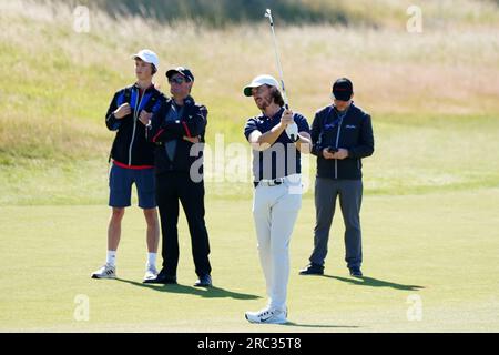
[{"label": "tall dry golden rough grass on the slope behind the men", "polygon": [[[497,14],[488,12],[488,2],[422,2],[422,33],[405,29],[401,10],[408,1],[376,3],[373,16],[384,10],[386,21],[397,26],[277,28],[295,110],[312,119],[329,102],[332,81],[346,75],[354,80],[357,102],[379,120],[499,111],[498,26],[487,21]],[[337,4],[364,13],[367,2]],[[91,10],[90,32],[78,33],[73,8],[61,2],[2,1],[0,10],[0,150],[9,154],[106,151],[102,116],[112,92],[133,80],[130,54],[141,48],[160,54],[156,82],[165,91],[167,68],[193,69],[194,94],[211,110],[210,134],[230,133],[228,140],[242,140],[241,122],[254,111],[242,87],[256,74],[277,74],[264,21],[217,30],[138,17],[114,20]]]}]

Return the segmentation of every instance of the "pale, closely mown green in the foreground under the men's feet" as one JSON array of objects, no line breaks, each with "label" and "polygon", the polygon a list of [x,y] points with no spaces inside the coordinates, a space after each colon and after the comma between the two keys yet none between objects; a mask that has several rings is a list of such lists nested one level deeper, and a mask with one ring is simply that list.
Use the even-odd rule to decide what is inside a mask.
[{"label": "pale, closely mown green in the foreground under the men's feet", "polygon": [[[244,311],[265,303],[251,201],[208,200],[215,288],[195,290],[190,239],[181,219],[179,286],[141,284],[144,223],[124,220],[118,281],[90,273],[105,256],[104,206],[0,209],[1,331],[167,332],[497,332],[499,190],[364,201],[364,271],[344,266],[336,219],[325,277],[297,275],[312,247],[313,201],[306,199],[291,245],[288,326],[253,326]],[[227,221],[231,227],[227,229]],[[244,282],[241,282],[244,280]],[[77,295],[90,300],[90,321],[77,322]],[[422,320],[407,320],[419,295]]]}]

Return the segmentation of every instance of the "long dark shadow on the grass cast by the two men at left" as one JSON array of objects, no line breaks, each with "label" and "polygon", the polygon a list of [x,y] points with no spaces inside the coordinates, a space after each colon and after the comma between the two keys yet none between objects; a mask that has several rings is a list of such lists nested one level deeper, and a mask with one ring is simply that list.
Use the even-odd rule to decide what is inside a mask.
[{"label": "long dark shadow on the grass cast by the two men at left", "polygon": [[251,295],[246,293],[238,293],[238,292],[232,292],[220,287],[193,287],[193,286],[185,286],[185,285],[161,285],[161,284],[144,284],[136,281],[131,280],[124,280],[124,278],[115,278],[119,282],[124,282],[128,284],[131,284],[133,286],[138,287],[144,287],[154,290],[157,292],[166,292],[166,293],[179,293],[179,294],[189,294],[189,295],[195,295],[200,297],[205,298],[224,298],[230,297],[234,300],[257,300],[261,298],[256,295]]}]

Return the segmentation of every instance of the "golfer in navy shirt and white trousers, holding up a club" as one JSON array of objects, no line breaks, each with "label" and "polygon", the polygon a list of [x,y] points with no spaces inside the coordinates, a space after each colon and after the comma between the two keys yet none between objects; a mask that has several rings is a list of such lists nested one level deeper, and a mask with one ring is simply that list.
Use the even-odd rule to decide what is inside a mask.
[{"label": "golfer in navy shirt and white trousers, holding up a club", "polygon": [[285,109],[277,81],[256,77],[244,88],[262,113],[246,122],[244,134],[253,148],[253,217],[268,304],[246,312],[251,323],[287,322],[289,241],[302,206],[301,153],[310,152],[307,120]]}]

